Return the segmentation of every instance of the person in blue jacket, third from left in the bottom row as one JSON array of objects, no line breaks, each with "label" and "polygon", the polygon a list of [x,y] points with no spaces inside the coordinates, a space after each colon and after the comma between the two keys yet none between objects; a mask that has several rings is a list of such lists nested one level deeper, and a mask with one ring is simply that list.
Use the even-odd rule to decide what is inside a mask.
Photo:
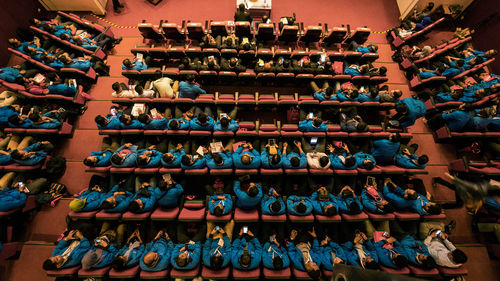
[{"label": "person in blue jacket, third from left in the bottom row", "polygon": [[123,271],[127,268],[139,265],[145,248],[146,246],[142,242],[139,228],[136,228],[125,242],[125,245],[118,250],[111,266],[118,271]]}]

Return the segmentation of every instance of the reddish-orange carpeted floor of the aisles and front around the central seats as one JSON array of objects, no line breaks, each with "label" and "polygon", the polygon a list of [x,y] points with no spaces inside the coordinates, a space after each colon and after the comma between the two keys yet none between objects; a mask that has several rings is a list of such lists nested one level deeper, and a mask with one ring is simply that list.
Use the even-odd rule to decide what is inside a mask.
[{"label": "reddish-orange carpeted floor of the aisles and front around the central seats", "polygon": [[[108,1],[108,15],[106,20],[120,26],[135,26],[138,22],[146,19],[148,22],[158,24],[160,20],[168,19],[170,22],[181,23],[182,20],[193,22],[204,22],[205,20],[232,20],[235,11],[234,0],[200,1],[200,0],[165,0],[159,5],[153,6],[145,0],[122,0],[125,5],[121,14],[116,14],[111,8],[111,1]],[[397,25],[398,9],[395,1],[390,0],[316,0],[316,1],[296,1],[296,0],[274,0],[271,19],[277,21],[280,16],[289,16],[296,13],[297,21],[304,22],[304,25],[328,23],[330,27],[350,24],[351,27],[368,26],[373,31],[384,31]],[[98,20],[92,16],[87,16],[93,20]],[[72,193],[79,192],[89,182],[90,174],[84,172],[82,159],[91,151],[100,147],[102,137],[98,135],[94,123],[97,114],[107,112],[111,105],[111,84],[115,81],[123,81],[120,76],[121,61],[131,56],[130,48],[141,45],[137,29],[115,28],[115,34],[124,36],[108,57],[111,64],[111,77],[101,77],[93,87],[90,94],[95,100],[88,102],[88,110],[80,117],[76,124],[76,131],[72,139],[69,139],[59,149],[59,153],[68,159],[68,168],[61,181],[67,185]],[[438,36],[431,38],[434,42],[447,39],[449,33],[437,33]],[[385,65],[388,68],[389,82],[391,89],[401,89],[404,96],[410,96],[408,83],[399,70],[398,65],[391,59],[392,51],[385,40],[383,34],[372,34],[368,40],[379,44],[380,58],[376,65]],[[209,91],[233,91],[233,88],[207,87]],[[253,89],[252,89],[253,90]],[[296,89],[259,89],[259,91],[269,90],[271,92],[294,92]],[[300,89],[299,89],[300,90]],[[418,143],[422,153],[430,156],[428,166],[429,175],[422,176],[427,189],[438,201],[453,200],[454,194],[449,190],[431,187],[431,177],[442,175],[447,170],[447,164],[455,159],[455,151],[449,145],[435,144],[432,134],[422,121],[417,121],[411,128],[414,134],[412,142]],[[25,245],[19,259],[0,263],[0,280],[31,281],[31,280],[52,280],[47,278],[41,270],[41,262],[46,258],[53,246],[50,246],[65,227],[65,216],[68,212],[69,199],[61,200],[55,208],[45,207],[36,215],[27,230],[30,245]],[[469,277],[467,280],[498,280],[500,276],[500,263],[491,261],[486,255],[486,250],[477,243],[474,234],[471,232],[471,220],[464,210],[454,210],[447,212],[448,217],[457,220],[457,229],[451,239],[459,243],[469,255],[467,268]]]}]

